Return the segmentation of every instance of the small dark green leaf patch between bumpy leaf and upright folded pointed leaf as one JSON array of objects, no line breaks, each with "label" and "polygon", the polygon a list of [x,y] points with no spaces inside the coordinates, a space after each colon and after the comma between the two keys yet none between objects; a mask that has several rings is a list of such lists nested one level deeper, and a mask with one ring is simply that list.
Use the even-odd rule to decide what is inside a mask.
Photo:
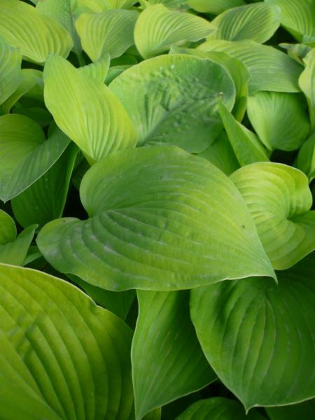
[{"label": "small dark green leaf patch between bumpy leaf and upright folded pointed leaf", "polygon": [[214,143],[199,156],[209,160],[228,176],[239,169],[239,162],[225,132],[220,134]]}]

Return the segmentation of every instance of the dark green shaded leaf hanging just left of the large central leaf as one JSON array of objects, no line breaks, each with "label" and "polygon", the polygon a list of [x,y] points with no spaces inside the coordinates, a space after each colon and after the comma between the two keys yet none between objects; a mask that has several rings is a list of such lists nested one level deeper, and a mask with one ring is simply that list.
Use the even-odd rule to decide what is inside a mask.
[{"label": "dark green shaded leaf hanging just left of the large central leaf", "polygon": [[24,228],[37,223],[41,228],[62,216],[78,148],[71,144],[48,171],[27,190],[11,200],[13,214]]}]

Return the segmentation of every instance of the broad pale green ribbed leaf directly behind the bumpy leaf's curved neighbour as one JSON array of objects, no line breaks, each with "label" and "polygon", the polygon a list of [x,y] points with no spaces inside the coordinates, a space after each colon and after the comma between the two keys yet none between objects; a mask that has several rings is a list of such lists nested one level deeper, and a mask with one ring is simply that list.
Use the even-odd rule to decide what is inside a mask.
[{"label": "broad pale green ribbed leaf directly behind the bumpy leaf's curved neighbour", "polygon": [[259,90],[274,92],[300,92],[297,79],[302,66],[284,52],[255,41],[211,40],[198,47],[203,51],[221,51],[243,62],[251,73],[249,94]]}]

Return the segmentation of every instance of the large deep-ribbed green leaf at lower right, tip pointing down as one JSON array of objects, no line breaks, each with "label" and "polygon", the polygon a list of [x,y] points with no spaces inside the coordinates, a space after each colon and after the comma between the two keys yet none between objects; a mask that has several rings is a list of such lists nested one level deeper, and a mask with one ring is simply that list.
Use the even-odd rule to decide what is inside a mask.
[{"label": "large deep-ribbed green leaf at lower right, tip pointing down", "polygon": [[315,254],[265,278],[191,292],[191,316],[218,377],[243,402],[286,405],[315,395]]}]

